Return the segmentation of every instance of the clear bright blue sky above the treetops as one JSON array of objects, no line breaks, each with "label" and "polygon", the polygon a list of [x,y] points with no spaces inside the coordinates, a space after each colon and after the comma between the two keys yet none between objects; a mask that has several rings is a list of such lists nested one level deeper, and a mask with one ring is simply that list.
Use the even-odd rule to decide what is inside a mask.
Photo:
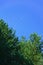
[{"label": "clear bright blue sky above the treetops", "polygon": [[43,0],[0,0],[0,19],[16,30],[16,35],[43,35]]}]

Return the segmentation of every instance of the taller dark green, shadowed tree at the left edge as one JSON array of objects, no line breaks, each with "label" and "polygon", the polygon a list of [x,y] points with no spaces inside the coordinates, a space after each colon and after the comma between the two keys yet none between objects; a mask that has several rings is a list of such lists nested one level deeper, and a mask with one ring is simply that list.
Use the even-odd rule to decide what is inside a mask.
[{"label": "taller dark green, shadowed tree at the left edge", "polygon": [[15,55],[15,48],[18,44],[18,37],[15,31],[8,27],[8,25],[0,20],[0,65],[13,65]]}]

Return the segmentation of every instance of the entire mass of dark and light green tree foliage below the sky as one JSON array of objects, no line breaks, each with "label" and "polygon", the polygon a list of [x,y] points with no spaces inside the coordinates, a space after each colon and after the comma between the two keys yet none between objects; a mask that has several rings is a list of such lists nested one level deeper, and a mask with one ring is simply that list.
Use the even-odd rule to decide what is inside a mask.
[{"label": "entire mass of dark and light green tree foliage below the sky", "polygon": [[[41,65],[43,58],[40,52],[41,37],[33,33],[30,39],[22,36],[21,40],[15,31],[0,20],[0,65]],[[41,63],[42,62],[42,63]]]}]

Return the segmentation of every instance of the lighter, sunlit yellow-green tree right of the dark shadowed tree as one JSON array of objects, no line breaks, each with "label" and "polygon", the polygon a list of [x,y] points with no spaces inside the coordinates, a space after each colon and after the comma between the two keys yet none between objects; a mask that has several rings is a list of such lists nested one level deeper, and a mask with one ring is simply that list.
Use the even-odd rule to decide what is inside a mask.
[{"label": "lighter, sunlit yellow-green tree right of the dark shadowed tree", "polygon": [[[41,58],[41,53],[40,53],[40,40],[41,37],[38,36],[36,33],[30,35],[30,40],[27,41],[21,41],[19,43],[20,46],[20,53],[24,56],[25,59],[31,62],[35,65],[39,62]],[[28,64],[29,65],[29,64]]]}]

